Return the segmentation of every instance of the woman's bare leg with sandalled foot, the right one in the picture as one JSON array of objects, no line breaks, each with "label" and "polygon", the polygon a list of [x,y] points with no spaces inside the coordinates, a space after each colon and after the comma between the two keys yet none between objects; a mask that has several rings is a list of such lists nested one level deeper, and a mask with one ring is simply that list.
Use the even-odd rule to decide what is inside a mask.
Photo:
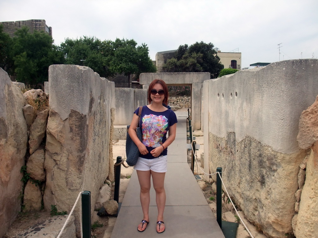
[{"label": "woman's bare leg with sandalled foot, the right one in the picture", "polygon": [[[151,171],[151,170],[150,170]],[[166,206],[166,191],[164,189],[164,177],[166,173],[158,173],[151,171],[152,182],[154,185],[154,189],[156,191],[156,204],[158,209],[158,217],[157,221],[163,221],[163,212],[164,207]],[[157,225],[157,231],[163,231],[165,229],[164,224],[162,223],[159,229],[159,225]]]}]

